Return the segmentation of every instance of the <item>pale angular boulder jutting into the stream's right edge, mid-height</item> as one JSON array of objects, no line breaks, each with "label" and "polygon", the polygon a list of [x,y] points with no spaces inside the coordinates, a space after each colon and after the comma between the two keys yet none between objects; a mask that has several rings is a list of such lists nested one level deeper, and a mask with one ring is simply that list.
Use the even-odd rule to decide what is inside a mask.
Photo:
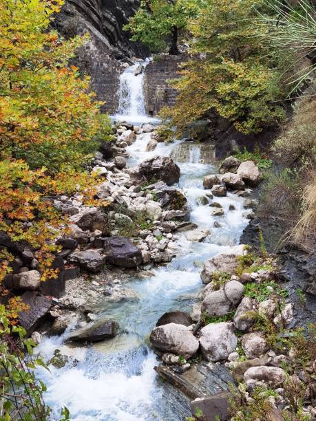
[{"label": "pale angular boulder jutting into the stream's right edge, mid-height", "polygon": [[238,266],[238,256],[244,255],[244,245],[231,248],[230,252],[220,253],[204,262],[201,279],[203,283],[213,280],[214,272],[234,272]]}]

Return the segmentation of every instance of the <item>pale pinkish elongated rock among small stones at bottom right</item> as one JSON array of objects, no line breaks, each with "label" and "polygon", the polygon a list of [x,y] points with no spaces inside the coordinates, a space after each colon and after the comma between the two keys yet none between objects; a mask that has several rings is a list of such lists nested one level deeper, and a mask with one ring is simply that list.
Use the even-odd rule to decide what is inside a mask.
[{"label": "pale pinkish elongated rock among small stones at bottom right", "polygon": [[280,367],[251,367],[244,373],[244,381],[256,380],[271,387],[280,387],[286,380],[286,372]]}]

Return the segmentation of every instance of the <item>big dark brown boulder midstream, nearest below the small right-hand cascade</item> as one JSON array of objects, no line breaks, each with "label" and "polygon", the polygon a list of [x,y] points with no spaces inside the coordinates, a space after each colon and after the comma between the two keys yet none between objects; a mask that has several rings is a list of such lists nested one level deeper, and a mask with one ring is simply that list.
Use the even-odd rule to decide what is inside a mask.
[{"label": "big dark brown boulder midstream, nearest below the small right-hand cascade", "polygon": [[138,174],[145,180],[162,180],[171,185],[180,178],[180,168],[168,157],[155,156],[139,165]]}]

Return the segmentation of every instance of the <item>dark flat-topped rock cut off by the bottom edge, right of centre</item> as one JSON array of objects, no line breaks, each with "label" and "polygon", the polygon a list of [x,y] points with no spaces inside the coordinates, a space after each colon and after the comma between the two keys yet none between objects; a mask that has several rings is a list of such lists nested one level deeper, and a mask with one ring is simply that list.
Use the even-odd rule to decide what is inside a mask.
[{"label": "dark flat-topped rock cut off by the bottom edge, right of centre", "polygon": [[[192,415],[202,421],[228,421],[231,419],[229,411],[231,394],[220,392],[207,398],[196,398],[190,404]],[[203,415],[197,417],[197,413]]]}]

